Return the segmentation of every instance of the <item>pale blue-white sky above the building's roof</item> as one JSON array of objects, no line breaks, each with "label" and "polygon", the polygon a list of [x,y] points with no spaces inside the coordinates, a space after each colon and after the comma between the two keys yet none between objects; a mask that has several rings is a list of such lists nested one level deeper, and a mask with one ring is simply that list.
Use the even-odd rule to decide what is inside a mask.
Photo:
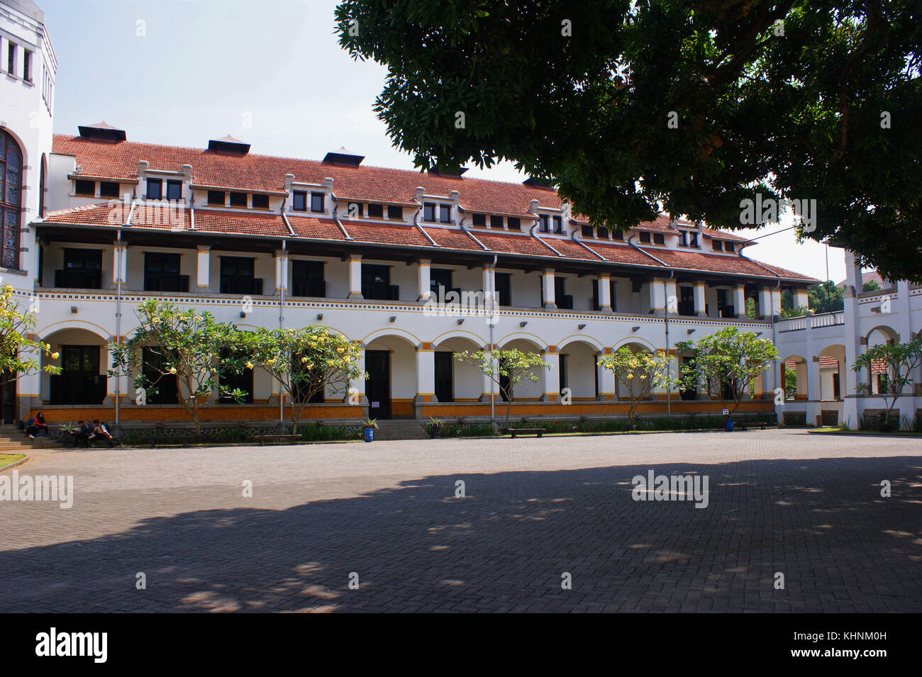
[{"label": "pale blue-white sky above the building's roof", "polygon": [[[105,121],[129,141],[204,147],[231,134],[253,153],[321,159],[345,146],[366,165],[413,169],[372,111],[386,69],[339,47],[334,0],[36,2],[58,56],[55,133]],[[475,176],[526,179],[511,163],[468,170]],[[798,244],[790,230],[746,250],[821,280],[827,254],[829,278],[844,279],[843,250]]]}]

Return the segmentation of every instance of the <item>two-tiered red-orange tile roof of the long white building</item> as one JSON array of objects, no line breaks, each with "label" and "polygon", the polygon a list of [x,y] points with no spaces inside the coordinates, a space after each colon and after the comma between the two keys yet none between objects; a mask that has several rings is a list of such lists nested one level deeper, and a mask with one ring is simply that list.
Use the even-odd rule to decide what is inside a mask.
[{"label": "two-tiered red-orange tile roof of the long white building", "polygon": [[[517,214],[524,217],[522,232],[473,228],[469,233],[465,233],[459,228],[441,228],[426,224],[422,228],[417,228],[396,223],[353,220],[341,220],[340,228],[335,221],[327,218],[286,215],[294,232],[292,236],[285,219],[279,214],[199,208],[195,209],[195,230],[200,232],[342,242],[351,240],[357,243],[383,243],[394,247],[433,251],[439,248],[471,252],[489,251],[549,260],[560,260],[561,257],[582,262],[604,260],[645,268],[661,268],[665,264],[679,271],[739,274],[770,280],[777,279],[777,274],[788,282],[816,282],[806,275],[792,273],[769,264],[753,263],[748,258],[735,255],[644,246],[642,249],[649,253],[647,255],[627,244],[616,244],[611,240],[585,239],[584,243],[589,248],[586,249],[571,239],[535,237],[529,232],[532,222],[527,218],[530,201],[537,199],[541,207],[556,209],[561,208],[561,200],[554,191],[520,183],[464,179],[406,169],[348,167],[316,160],[254,154],[240,157],[201,148],[128,141],[106,143],[65,134],[54,136],[53,150],[55,153],[74,155],[77,158],[77,173],[86,176],[136,181],[137,163],[139,160],[146,160],[149,170],[181,171],[184,164],[191,165],[192,181],[195,185],[225,189],[283,192],[286,174],[294,175],[295,181],[298,182],[318,184],[330,177],[334,180],[333,192],[339,199],[410,204],[415,198],[416,188],[421,186],[426,194],[447,196],[452,191],[458,191],[459,204],[468,212]],[[96,204],[53,212],[46,216],[45,221],[83,226],[122,226],[125,214],[126,212],[113,212],[109,204]],[[190,216],[184,208],[177,210],[175,214],[165,214],[167,218],[159,220],[156,216],[156,211],[151,213],[136,207],[131,228],[184,230],[192,227]],[[691,223],[682,220],[672,223],[680,227],[692,226]],[[641,224],[638,229],[674,232],[667,216],[659,216],[650,223]],[[711,228],[703,228],[703,236],[745,241],[739,236]],[[657,259],[662,264],[657,263]]]}]

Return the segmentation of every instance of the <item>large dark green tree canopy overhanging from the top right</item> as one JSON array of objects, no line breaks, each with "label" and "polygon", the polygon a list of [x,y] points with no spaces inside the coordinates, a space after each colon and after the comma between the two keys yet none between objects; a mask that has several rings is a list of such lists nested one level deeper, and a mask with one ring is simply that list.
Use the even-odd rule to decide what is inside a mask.
[{"label": "large dark green tree canopy overhanging from the top right", "polygon": [[375,111],[420,168],[509,159],[621,229],[816,200],[800,237],[922,281],[916,0],[343,0],[336,20],[387,67]]}]

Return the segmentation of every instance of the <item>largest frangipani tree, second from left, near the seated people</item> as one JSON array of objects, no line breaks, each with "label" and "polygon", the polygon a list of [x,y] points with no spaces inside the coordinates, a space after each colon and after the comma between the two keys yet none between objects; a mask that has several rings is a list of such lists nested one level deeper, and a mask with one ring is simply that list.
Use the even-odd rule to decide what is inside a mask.
[{"label": "largest frangipani tree, second from left, near the seated people", "polygon": [[[240,333],[229,322],[219,322],[208,312],[181,310],[150,299],[136,309],[138,327],[124,344],[109,344],[110,375],[134,372],[141,402],[159,391],[166,377],[175,376],[176,401],[192,416],[195,438],[201,435],[199,409],[220,380],[220,374],[239,371]],[[143,391],[143,392],[142,392]],[[222,391],[235,402],[246,393]]]}]

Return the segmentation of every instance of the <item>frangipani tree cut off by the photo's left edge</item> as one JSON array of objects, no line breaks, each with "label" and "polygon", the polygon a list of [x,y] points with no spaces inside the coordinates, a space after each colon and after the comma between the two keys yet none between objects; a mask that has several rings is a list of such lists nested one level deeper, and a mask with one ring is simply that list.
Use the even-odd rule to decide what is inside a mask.
[{"label": "frangipani tree cut off by the photo's left edge", "polygon": [[57,359],[58,354],[52,352],[50,344],[29,338],[36,324],[35,313],[19,309],[14,291],[6,283],[0,286],[0,385],[37,371],[61,373],[60,367],[41,366],[41,356]]}]

